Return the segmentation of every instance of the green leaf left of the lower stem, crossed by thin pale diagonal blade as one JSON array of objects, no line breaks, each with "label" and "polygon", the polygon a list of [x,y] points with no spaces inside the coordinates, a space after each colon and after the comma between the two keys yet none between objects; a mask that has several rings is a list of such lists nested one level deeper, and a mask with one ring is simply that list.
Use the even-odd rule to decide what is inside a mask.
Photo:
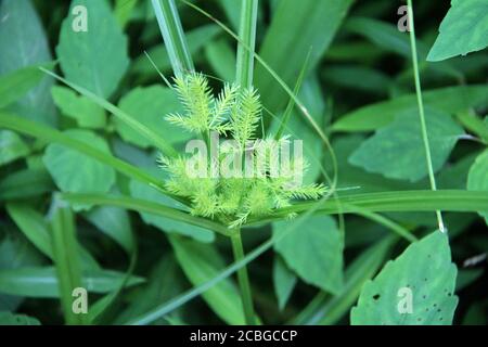
[{"label": "green leaf left of the lower stem, crossed by thin pale diagonal blade", "polygon": [[[214,279],[224,268],[214,246],[177,235],[171,235],[169,240],[178,262],[193,285],[197,286]],[[228,324],[244,324],[241,297],[230,279],[219,282],[203,293],[202,297]]]}]

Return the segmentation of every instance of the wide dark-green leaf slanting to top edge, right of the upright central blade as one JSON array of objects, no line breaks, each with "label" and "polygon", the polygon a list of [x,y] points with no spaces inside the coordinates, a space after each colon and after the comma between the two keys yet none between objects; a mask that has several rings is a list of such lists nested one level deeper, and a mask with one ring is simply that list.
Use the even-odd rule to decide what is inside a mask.
[{"label": "wide dark-green leaf slanting to top edge, right of the upright central blade", "polygon": [[[293,86],[309,52],[308,70],[317,66],[351,3],[351,0],[280,1],[259,50],[260,56],[287,86]],[[260,64],[256,65],[255,85],[264,105],[271,112],[286,104],[287,94]]]}]

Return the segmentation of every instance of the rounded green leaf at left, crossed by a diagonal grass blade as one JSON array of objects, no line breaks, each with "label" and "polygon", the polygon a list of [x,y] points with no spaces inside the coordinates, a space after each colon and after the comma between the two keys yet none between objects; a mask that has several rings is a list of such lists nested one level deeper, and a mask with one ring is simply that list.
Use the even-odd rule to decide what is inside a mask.
[{"label": "rounded green leaf at left, crossed by a diagonal grass blade", "polygon": [[[67,130],[64,134],[110,154],[105,140],[88,130]],[[106,193],[115,182],[115,170],[61,144],[50,144],[43,156],[46,168],[63,192]]]}]

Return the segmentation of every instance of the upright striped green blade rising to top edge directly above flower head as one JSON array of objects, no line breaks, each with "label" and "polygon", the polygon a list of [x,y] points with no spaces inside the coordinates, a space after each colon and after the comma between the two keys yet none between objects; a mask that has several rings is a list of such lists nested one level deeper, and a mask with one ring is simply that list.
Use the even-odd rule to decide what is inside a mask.
[{"label": "upright striped green blade rising to top edge directly above flower head", "polygon": [[257,10],[258,0],[242,0],[236,82],[243,88],[253,86]]}]

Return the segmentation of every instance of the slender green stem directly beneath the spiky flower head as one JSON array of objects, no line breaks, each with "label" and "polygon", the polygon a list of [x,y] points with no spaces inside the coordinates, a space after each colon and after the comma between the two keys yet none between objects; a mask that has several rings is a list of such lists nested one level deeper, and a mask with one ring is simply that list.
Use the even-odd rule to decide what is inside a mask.
[{"label": "slender green stem directly beneath the spiky flower head", "polygon": [[[240,261],[244,259],[244,248],[242,246],[241,229],[236,228],[232,230],[230,239],[232,241],[232,250],[234,253],[234,260]],[[254,325],[255,319],[254,319],[253,295],[251,293],[251,284],[249,278],[247,275],[246,266],[243,266],[237,270],[237,281],[241,291],[242,305],[244,308],[244,317],[246,320],[246,324]]]}]

